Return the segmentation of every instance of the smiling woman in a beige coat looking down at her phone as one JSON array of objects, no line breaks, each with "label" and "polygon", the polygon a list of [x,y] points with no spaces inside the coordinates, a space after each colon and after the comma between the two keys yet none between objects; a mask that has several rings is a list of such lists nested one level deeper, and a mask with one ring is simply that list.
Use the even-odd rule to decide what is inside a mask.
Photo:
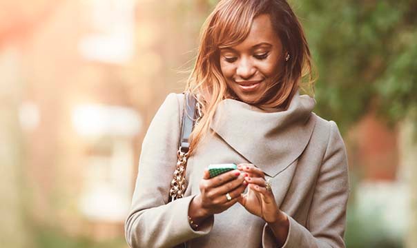
[{"label": "smiling woman in a beige coat looking down at her phone", "polygon": [[[220,1],[186,86],[203,115],[184,198],[168,203],[184,105],[182,94],[169,94],[142,145],[129,245],[345,247],[345,145],[298,93],[304,74],[309,48],[287,1]],[[214,163],[238,168],[210,178]]]}]

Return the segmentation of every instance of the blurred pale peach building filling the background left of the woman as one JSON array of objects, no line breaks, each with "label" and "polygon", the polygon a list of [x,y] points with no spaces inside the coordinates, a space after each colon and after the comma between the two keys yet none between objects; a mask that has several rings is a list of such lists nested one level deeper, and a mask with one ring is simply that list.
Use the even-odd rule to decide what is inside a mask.
[{"label": "blurred pale peach building filling the background left of the woman", "polygon": [[183,89],[206,3],[1,3],[6,247],[34,247],[50,227],[123,237],[142,137],[166,94]]}]

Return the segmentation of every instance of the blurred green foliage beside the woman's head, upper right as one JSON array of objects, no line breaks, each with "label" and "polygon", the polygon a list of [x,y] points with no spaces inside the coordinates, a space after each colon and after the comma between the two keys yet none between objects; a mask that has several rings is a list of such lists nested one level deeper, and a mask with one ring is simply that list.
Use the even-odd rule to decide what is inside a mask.
[{"label": "blurred green foliage beside the woman's head, upper right", "polygon": [[416,112],[417,1],[290,2],[318,69],[320,116],[346,130],[370,110],[391,124]]}]

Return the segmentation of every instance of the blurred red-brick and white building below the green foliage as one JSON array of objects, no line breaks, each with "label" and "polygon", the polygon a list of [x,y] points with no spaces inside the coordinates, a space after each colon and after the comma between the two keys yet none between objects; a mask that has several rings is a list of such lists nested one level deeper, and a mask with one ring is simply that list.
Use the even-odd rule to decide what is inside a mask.
[{"label": "blurred red-brick and white building below the green foliage", "polygon": [[407,131],[404,136],[402,127],[389,127],[375,113],[369,112],[345,136],[351,167],[348,218],[356,222],[348,225],[347,231],[348,234],[356,232],[349,226],[362,227],[357,234],[352,234],[358,244],[361,239],[373,239],[372,247],[398,247],[404,243],[413,223],[410,218],[413,189],[405,175],[411,171],[402,153],[414,148],[403,146],[409,142],[411,133]]}]

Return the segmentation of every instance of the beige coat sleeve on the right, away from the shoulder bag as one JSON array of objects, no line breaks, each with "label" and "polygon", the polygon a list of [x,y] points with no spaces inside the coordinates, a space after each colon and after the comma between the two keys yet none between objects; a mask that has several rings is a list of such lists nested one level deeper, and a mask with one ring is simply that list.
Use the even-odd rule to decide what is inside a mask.
[{"label": "beige coat sleeve on the right, away from the shoulder bag", "polygon": [[[289,217],[289,233],[283,248],[345,247],[349,178],[347,154],[342,136],[329,121],[329,140],[307,218],[307,227]],[[264,226],[264,247],[278,247],[268,225]]]}]

